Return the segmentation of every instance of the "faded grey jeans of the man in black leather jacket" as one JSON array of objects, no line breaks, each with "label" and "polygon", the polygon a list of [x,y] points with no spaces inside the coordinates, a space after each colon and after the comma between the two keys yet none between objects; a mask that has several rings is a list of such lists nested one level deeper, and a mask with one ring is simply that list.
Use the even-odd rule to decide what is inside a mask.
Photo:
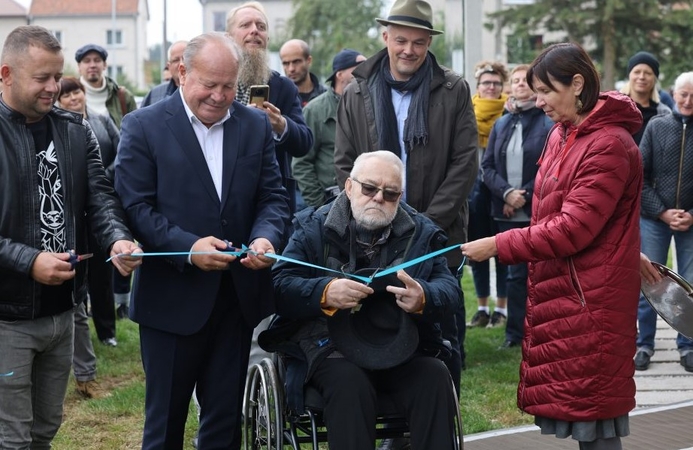
[{"label": "faded grey jeans of the man in black leather jacket", "polygon": [[0,320],[0,448],[51,448],[72,366],[73,315]]}]

